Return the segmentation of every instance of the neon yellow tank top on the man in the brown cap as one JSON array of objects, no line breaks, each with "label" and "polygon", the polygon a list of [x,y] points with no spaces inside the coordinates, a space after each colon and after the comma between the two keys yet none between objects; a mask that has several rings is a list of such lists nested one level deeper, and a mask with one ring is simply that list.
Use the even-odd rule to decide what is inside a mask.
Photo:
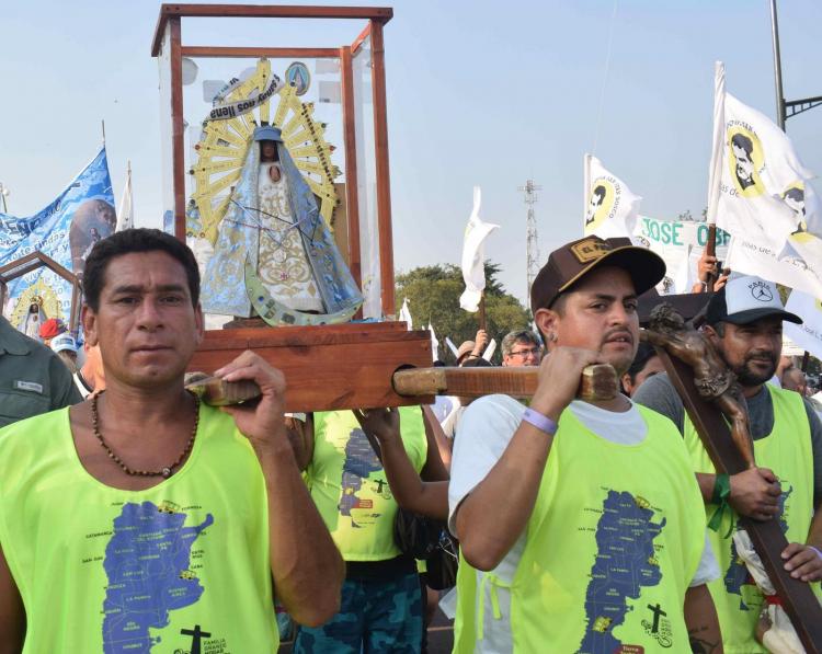
[{"label": "neon yellow tank top on the man in the brown cap", "polygon": [[[648,434],[630,446],[562,413],[510,586],[515,653],[690,652],[683,604],[705,542],[699,489],[671,421],[637,409]],[[490,607],[460,560],[456,653],[473,652],[481,613],[499,611],[501,581],[482,583]]]}]

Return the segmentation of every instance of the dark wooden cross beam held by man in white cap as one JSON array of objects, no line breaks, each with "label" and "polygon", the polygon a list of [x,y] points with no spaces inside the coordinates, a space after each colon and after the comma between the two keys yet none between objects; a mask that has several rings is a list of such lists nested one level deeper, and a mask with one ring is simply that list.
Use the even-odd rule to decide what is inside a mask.
[{"label": "dark wooden cross beam held by man in white cap", "polygon": [[[693,370],[681,360],[657,347],[671,381],[685,404],[705,449],[718,473],[735,474],[745,470],[742,456],[731,440],[731,434],[719,410],[699,395],[694,385]],[[739,518],[740,527],[747,531],[756,553],[762,559],[776,594],[788,613],[799,640],[809,654],[822,654],[822,608],[809,584],[786,572],[781,558],[788,541],[776,519],[766,521]]]}]

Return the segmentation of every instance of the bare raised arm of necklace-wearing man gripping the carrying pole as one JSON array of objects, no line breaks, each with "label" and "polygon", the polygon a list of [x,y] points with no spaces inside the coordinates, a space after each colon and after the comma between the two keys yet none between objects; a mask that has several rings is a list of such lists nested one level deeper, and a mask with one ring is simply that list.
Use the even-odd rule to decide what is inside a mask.
[{"label": "bare raised arm of necklace-wearing man gripping the carrying pole", "polygon": [[256,452],[269,503],[271,572],[277,597],[307,627],[329,620],[340,608],[345,569],[306,484],[284,424],[285,378],[252,352],[244,352],[216,377],[256,381],[255,406],[225,406]]}]

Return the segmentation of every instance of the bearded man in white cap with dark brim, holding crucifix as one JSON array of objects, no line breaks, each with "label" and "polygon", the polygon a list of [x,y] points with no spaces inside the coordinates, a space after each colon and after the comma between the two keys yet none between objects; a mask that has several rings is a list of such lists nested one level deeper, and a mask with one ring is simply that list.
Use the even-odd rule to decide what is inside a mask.
[{"label": "bearded man in white cap with dark brim, holding crucifix", "polygon": [[[710,592],[726,652],[767,652],[754,640],[765,600],[731,538],[739,515],[778,519],[791,543],[783,552],[785,569],[803,582],[822,578],[822,424],[802,397],[766,383],[779,362],[785,320],[802,322],[785,310],[773,282],[750,275],[732,275],[706,310],[704,331],[742,387],[758,468],[716,473],[667,375],[649,379],[633,397],[670,417],[684,436],[706,516],[716,528],[709,533],[721,577]],[[733,510],[720,509],[727,504]]]}]

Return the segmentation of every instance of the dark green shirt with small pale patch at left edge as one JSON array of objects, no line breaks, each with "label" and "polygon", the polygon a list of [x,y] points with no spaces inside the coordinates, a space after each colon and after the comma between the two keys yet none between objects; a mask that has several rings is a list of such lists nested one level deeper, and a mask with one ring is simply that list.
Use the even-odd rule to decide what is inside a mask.
[{"label": "dark green shirt with small pale patch at left edge", "polygon": [[0,315],[0,427],[78,402],[66,364]]}]

